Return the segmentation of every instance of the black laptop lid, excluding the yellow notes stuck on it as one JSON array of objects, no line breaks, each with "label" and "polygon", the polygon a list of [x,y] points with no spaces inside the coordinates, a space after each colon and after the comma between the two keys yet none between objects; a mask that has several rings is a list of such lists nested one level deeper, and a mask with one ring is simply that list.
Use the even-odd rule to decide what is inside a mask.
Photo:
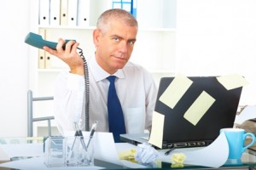
[{"label": "black laptop lid, excluding the yellow notes stuck on it", "polygon": [[[216,77],[188,77],[193,83],[177,102],[170,108],[159,99],[174,77],[162,77],[157,95],[155,111],[165,115],[163,143],[186,143],[191,141],[213,141],[218,137],[220,128],[233,127],[241,96],[241,88],[227,90]],[[177,89],[178,90],[178,89]],[[201,120],[193,125],[183,115],[202,91],[216,99]],[[172,96],[170,96],[170,99]],[[166,147],[164,147],[166,148]]]}]

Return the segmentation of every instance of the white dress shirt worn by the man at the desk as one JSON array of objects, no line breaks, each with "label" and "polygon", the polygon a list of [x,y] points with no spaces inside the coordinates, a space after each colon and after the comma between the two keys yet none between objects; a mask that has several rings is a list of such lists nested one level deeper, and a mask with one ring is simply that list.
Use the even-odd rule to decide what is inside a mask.
[{"label": "white dress shirt worn by the man at the desk", "polygon": [[[128,62],[113,74],[122,105],[126,133],[143,133],[151,128],[157,87],[152,75],[140,65]],[[96,131],[108,132],[108,72],[90,59],[90,127],[98,121]],[[74,130],[73,122],[84,129],[84,77],[62,71],[55,81],[55,121],[62,131]]]}]

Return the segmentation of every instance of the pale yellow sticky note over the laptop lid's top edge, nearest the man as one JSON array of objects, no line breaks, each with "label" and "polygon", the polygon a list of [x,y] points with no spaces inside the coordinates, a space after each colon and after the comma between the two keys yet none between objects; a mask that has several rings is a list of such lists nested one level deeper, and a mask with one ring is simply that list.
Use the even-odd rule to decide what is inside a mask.
[{"label": "pale yellow sticky note over the laptop lid's top edge, nearest the man", "polygon": [[177,74],[168,88],[166,88],[164,94],[160,96],[160,101],[173,109],[191,84],[192,81],[188,77],[185,77],[182,74]]}]

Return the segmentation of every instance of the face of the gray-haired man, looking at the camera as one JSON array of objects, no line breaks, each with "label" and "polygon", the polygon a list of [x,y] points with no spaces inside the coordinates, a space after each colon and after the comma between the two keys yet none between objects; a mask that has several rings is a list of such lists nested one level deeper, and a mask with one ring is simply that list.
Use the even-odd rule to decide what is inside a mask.
[{"label": "face of the gray-haired man, looking at the camera", "polygon": [[112,20],[107,31],[96,30],[96,61],[104,71],[113,74],[122,69],[131,57],[136,42],[137,27],[126,26],[120,20]]}]

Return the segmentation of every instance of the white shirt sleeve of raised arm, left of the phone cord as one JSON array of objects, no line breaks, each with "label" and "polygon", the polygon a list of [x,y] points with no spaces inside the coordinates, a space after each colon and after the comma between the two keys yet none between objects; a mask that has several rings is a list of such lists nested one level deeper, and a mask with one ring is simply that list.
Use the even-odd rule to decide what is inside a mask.
[{"label": "white shirt sleeve of raised arm, left of the phone cord", "polygon": [[[71,131],[79,122],[84,101],[84,77],[62,71],[55,80],[54,116],[60,133]],[[83,128],[83,127],[82,127]]]}]

